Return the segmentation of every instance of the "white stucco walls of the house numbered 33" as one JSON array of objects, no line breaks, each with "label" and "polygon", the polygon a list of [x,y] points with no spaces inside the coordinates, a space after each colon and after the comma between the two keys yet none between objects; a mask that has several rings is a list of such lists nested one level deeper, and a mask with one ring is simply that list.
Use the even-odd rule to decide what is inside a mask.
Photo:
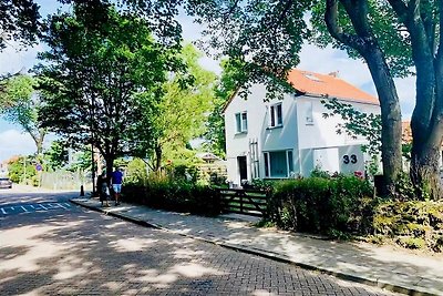
[{"label": "white stucco walls of the house numbered 33", "polygon": [[[251,180],[251,141],[258,142],[260,178],[265,176],[264,152],[282,150],[292,150],[296,174],[309,175],[316,163],[324,164],[329,171],[352,173],[364,170],[364,156],[360,150],[364,139],[353,140],[346,134],[337,134],[336,126],[341,119],[323,119],[322,114],[328,110],[320,98],[285,94],[284,100],[270,102],[265,102],[265,85],[255,84],[248,100],[236,96],[225,110],[228,181],[240,184],[238,156],[247,156],[248,180]],[[276,103],[282,104],[282,126],[269,127],[269,106]],[[351,104],[363,112],[380,113],[378,105]],[[244,111],[247,112],[248,131],[237,133],[235,114]],[[344,165],[342,157],[346,153],[354,154],[359,162]]]}]

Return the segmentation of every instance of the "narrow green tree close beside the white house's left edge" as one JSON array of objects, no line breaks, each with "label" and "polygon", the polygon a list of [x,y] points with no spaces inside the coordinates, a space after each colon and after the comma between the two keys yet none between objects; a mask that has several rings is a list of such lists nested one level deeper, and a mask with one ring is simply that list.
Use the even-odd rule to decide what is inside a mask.
[{"label": "narrow green tree close beside the white house's left edge", "polygon": [[229,60],[222,61],[222,76],[214,89],[214,109],[207,119],[205,139],[207,141],[207,147],[212,152],[218,156],[225,157],[226,137],[223,111],[230,96],[238,89],[237,78],[241,75],[241,72],[238,71],[235,63]]}]

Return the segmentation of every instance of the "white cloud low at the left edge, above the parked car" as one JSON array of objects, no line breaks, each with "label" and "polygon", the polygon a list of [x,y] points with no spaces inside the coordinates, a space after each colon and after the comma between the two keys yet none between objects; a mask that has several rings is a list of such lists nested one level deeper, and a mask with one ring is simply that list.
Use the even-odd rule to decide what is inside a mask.
[{"label": "white cloud low at the left edge, above the parked car", "polygon": [[13,155],[35,153],[35,144],[29,134],[18,130],[0,132],[0,160],[8,160]]}]

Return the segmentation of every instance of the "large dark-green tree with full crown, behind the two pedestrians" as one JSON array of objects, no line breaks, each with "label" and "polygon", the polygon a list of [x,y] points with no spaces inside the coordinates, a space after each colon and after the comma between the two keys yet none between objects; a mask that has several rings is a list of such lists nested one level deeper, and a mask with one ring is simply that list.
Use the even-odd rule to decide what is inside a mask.
[{"label": "large dark-green tree with full crown, behind the two pedestrians", "polygon": [[42,40],[50,50],[35,70],[47,94],[40,119],[74,149],[99,149],[111,174],[116,157],[150,146],[150,114],[166,71],[178,62],[144,19],[105,2],[89,4],[47,21]]}]

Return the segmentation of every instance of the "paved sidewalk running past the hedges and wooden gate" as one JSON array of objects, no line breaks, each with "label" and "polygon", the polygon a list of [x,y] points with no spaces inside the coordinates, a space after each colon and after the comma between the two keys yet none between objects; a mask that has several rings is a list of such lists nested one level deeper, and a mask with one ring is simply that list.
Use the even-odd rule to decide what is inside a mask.
[{"label": "paved sidewalk running past the hedges and wooden gate", "polygon": [[408,295],[443,295],[443,256],[415,255],[390,246],[338,243],[257,228],[251,226],[251,222],[257,220],[239,218],[239,215],[214,218],[125,203],[102,208],[95,198],[73,198],[71,202],[141,225],[321,271],[340,278]]}]

